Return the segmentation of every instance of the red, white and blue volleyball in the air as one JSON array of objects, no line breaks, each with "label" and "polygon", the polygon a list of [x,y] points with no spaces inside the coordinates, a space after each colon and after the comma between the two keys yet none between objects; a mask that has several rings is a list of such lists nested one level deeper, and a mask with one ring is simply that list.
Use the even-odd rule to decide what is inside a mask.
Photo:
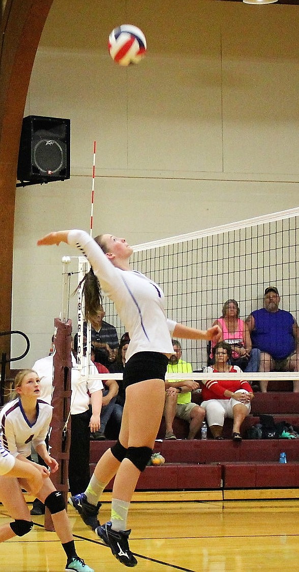
[{"label": "red, white and blue volleyball in the air", "polygon": [[111,58],[121,66],[138,63],[146,53],[145,35],[137,26],[118,26],[109,35],[108,50]]}]

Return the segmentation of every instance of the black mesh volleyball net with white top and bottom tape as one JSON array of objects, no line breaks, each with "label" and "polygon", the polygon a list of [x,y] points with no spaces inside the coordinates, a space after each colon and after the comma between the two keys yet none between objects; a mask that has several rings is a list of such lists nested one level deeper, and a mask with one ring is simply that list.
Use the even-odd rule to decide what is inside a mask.
[{"label": "black mesh volleyball net with white top and bottom tape", "polygon": [[[297,320],[298,224],[299,208],[135,245],[131,266],[161,286],[168,317],[192,327],[209,328],[222,315],[228,299],[238,302],[240,318],[245,320],[263,307],[269,286],[278,289],[280,308]],[[120,338],[125,325],[107,297],[104,304],[105,320],[114,325]],[[74,333],[75,329],[74,324]],[[193,379],[205,378],[200,372],[207,365],[206,342],[180,342],[182,359],[197,372]],[[246,379],[256,378],[299,379],[297,372],[246,374]]]}]

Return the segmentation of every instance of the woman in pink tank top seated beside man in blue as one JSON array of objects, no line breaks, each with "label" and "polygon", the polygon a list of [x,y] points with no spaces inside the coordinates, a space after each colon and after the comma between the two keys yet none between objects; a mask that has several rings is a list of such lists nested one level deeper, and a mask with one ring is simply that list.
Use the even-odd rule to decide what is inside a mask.
[{"label": "woman in pink tank top seated beside man in blue", "polygon": [[[249,329],[246,323],[240,319],[240,308],[236,300],[226,300],[222,308],[222,316],[214,321],[213,325],[219,325],[222,331],[222,340],[232,346],[230,364],[239,366],[242,371],[258,371],[260,363],[260,350],[252,349]],[[212,344],[213,349],[213,344]],[[212,351],[210,359],[213,360]],[[209,363],[212,365],[212,363]]]}]

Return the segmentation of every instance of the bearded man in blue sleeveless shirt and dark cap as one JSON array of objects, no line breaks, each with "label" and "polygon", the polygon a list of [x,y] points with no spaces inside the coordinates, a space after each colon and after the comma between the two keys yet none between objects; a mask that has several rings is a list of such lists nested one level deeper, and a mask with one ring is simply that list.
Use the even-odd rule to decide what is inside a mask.
[{"label": "bearded man in blue sleeveless shirt and dark cap", "polygon": [[[280,295],[274,286],[264,293],[264,308],[254,310],[246,320],[252,347],[261,350],[258,371],[298,371],[299,328],[290,312],[278,308]],[[294,381],[299,392],[299,382]],[[261,391],[267,391],[268,381],[260,381]]]}]

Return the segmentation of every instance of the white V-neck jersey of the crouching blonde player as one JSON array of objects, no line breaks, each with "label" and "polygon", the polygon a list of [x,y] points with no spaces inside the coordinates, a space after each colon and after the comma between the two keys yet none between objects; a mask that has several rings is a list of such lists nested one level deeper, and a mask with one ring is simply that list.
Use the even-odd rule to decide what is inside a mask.
[{"label": "white V-neck jersey of the crouching blonde player", "polygon": [[53,407],[49,403],[38,399],[37,419],[34,423],[30,423],[23,411],[21,399],[6,403],[0,412],[4,448],[14,457],[17,457],[19,453],[29,457],[31,443],[35,449],[41,443],[45,443],[52,419],[52,410]]}]

